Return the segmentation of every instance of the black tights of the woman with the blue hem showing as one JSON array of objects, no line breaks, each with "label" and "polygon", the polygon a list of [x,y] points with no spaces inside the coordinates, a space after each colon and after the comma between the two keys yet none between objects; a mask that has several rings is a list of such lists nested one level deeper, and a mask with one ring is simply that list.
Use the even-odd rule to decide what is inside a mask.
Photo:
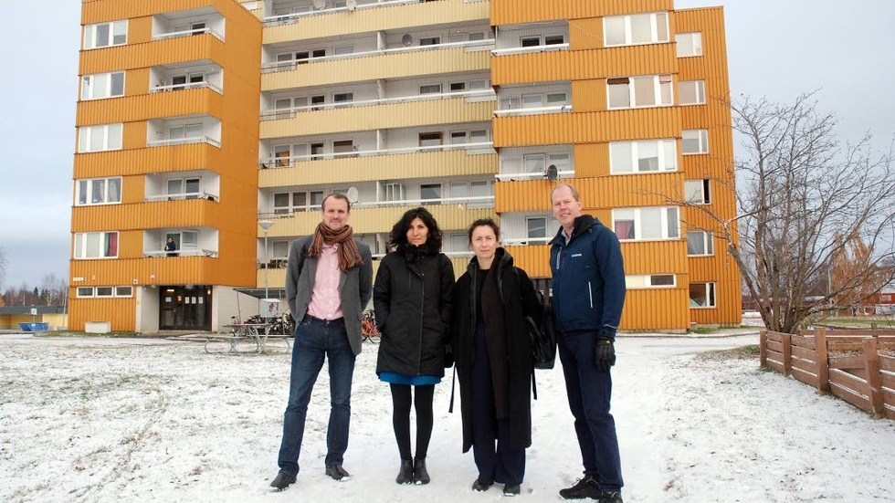
[{"label": "black tights of the woman with the blue hem showing", "polygon": [[416,458],[424,459],[432,438],[432,425],[435,423],[432,414],[432,398],[435,395],[435,384],[414,386],[416,397],[410,395],[409,384],[390,384],[392,388],[392,426],[395,428],[395,440],[398,442],[398,453],[401,459],[413,459],[410,454],[410,403],[416,407]]}]

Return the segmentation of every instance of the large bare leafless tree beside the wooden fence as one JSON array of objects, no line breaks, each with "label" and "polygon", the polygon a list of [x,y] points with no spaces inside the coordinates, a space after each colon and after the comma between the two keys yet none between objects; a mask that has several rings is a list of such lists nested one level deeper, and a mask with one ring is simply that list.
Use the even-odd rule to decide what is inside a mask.
[{"label": "large bare leafless tree beside the wooden fence", "polygon": [[[733,130],[742,136],[729,178],[737,183],[738,215],[688,205],[714,222],[706,230],[726,241],[765,326],[794,332],[841,293],[871,283],[879,264],[892,259],[892,147],[877,156],[869,134],[857,144],[841,141],[835,115],[819,112],[812,94],[792,104],[742,98],[730,106]],[[828,271],[858,238],[873,255],[831,284]]]}]

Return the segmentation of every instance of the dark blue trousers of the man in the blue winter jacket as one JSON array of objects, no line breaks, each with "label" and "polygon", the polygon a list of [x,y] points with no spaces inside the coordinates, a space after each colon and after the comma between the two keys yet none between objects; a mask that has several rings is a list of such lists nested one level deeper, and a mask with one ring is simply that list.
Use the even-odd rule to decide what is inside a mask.
[{"label": "dark blue trousers of the man in the blue winter jacket", "polygon": [[622,487],[616,421],[609,414],[612,376],[594,365],[596,332],[575,332],[559,340],[565,391],[575,418],[584,475],[593,476],[601,489]]}]

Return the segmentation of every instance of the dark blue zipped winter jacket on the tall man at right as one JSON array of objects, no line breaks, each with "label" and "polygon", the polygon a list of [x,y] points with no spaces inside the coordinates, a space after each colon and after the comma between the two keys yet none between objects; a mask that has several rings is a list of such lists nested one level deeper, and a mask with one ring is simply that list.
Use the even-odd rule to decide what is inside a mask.
[{"label": "dark blue zipped winter jacket on the tall man at right", "polygon": [[550,242],[553,313],[561,333],[608,328],[614,336],[625,304],[625,264],[616,234],[591,215],[575,218]]}]

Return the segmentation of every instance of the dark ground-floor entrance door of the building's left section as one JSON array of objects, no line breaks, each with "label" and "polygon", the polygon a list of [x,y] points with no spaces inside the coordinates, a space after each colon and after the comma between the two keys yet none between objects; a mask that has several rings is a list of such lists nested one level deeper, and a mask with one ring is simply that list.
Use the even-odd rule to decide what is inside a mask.
[{"label": "dark ground-floor entrance door of the building's left section", "polygon": [[211,287],[163,287],[159,294],[160,329],[211,330]]}]

